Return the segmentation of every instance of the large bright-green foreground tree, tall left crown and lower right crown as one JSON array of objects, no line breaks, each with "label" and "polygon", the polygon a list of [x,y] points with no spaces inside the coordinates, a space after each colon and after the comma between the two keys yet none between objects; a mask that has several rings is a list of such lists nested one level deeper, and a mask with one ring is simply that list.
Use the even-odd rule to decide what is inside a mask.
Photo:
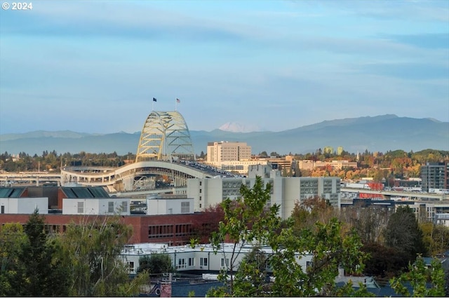
[{"label": "large bright-green foreground tree, tall left crown and lower right crown", "polygon": [[[313,228],[294,231],[292,218],[283,222],[278,216],[279,205],[267,207],[270,193],[271,184],[264,187],[262,179],[256,177],[252,189],[242,185],[241,198],[236,201],[227,199],[222,203],[225,219],[220,222],[218,231],[213,233],[212,243],[217,253],[224,253],[222,247],[225,240],[232,243],[234,249],[228,270],[222,271],[219,276],[226,287],[210,290],[208,295],[356,295],[358,292],[352,287],[344,287],[344,290],[335,287],[340,266],[350,273],[361,273],[363,270],[366,255],[361,252],[362,243],[355,231],[342,236],[342,225],[336,218],[326,224],[316,223]],[[242,245],[246,243],[267,245],[272,248],[272,253],[262,259],[258,250],[253,250],[242,259],[234,275],[236,260]],[[309,253],[313,255],[313,262],[307,270],[302,269],[297,260]],[[273,282],[264,281],[264,264],[272,269]]]}]

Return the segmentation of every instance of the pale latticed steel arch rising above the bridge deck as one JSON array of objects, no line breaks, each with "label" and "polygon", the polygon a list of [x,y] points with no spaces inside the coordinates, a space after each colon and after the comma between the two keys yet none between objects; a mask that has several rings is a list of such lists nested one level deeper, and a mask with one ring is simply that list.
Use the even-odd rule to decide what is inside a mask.
[{"label": "pale latticed steel arch rising above the bridge deck", "polygon": [[135,161],[195,159],[194,146],[184,117],[177,111],[152,111],[144,123]]}]

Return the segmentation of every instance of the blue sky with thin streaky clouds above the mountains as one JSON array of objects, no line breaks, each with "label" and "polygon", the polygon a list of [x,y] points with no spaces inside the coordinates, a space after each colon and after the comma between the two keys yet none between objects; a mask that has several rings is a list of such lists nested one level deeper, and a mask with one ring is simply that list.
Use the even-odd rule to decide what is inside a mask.
[{"label": "blue sky with thin streaky clouds above the mountains", "polygon": [[0,3],[0,134],[449,121],[449,1]]}]

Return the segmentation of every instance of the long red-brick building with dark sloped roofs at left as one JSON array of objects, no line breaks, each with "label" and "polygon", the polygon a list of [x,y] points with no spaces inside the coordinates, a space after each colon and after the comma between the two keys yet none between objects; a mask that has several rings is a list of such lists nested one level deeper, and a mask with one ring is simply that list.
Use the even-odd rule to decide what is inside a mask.
[{"label": "long red-brick building with dark sloped roofs at left", "polygon": [[[42,187],[41,187],[42,188]],[[51,191],[50,191],[51,190]],[[79,214],[65,214],[63,212],[63,202],[65,201],[109,201],[123,200],[123,198],[109,198],[101,187],[54,187],[41,191],[36,189],[22,188],[1,188],[0,198],[13,198],[15,201],[27,201],[27,204],[35,205],[33,199],[41,201],[43,193],[51,194],[48,198],[48,214],[42,214],[46,218],[46,229],[53,233],[62,233],[69,224],[82,224],[93,222],[104,217],[119,216],[124,224],[133,226],[133,236],[129,244],[134,243],[169,243],[169,245],[184,245],[189,243],[191,238],[206,239],[206,233],[213,229],[220,217],[211,215],[208,212],[189,212],[173,215],[142,215],[123,214],[123,212],[79,212]],[[35,193],[33,197],[30,194]],[[185,201],[185,200],[184,200]],[[7,204],[8,201],[0,201],[0,204]],[[6,206],[5,210],[8,210]],[[32,211],[30,211],[32,210]],[[98,211],[98,210],[97,210]],[[100,210],[101,211],[101,210]],[[0,224],[19,223],[25,224],[29,215],[34,212],[34,208],[22,208],[15,214],[4,212],[0,215]]]}]

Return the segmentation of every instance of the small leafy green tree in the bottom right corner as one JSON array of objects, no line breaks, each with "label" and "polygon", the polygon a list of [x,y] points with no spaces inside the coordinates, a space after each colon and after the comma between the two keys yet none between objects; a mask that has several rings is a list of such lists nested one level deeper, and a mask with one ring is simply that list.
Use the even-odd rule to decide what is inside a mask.
[{"label": "small leafy green tree in the bottom right corner", "polygon": [[[404,283],[410,283],[413,292],[409,292]],[[430,283],[430,287],[427,286]],[[398,278],[391,278],[391,287],[404,297],[445,297],[444,271],[441,262],[433,259],[431,268],[427,268],[424,259],[418,257],[414,264],[408,265],[408,272]]]}]

